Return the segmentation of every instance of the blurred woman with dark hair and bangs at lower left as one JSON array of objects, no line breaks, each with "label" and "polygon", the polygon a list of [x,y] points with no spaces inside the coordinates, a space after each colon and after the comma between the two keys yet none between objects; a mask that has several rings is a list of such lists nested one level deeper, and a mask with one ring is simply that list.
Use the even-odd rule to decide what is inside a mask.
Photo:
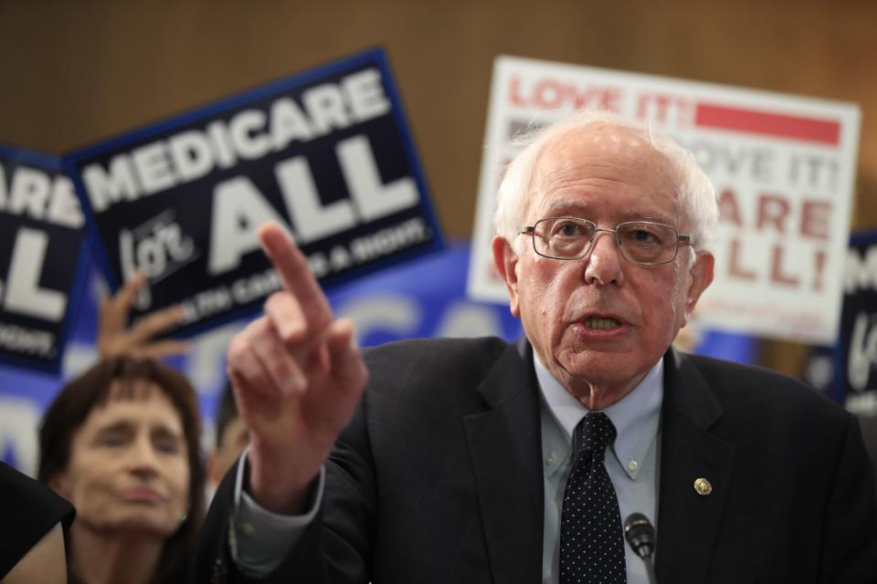
[{"label": "blurred woman with dark hair and bangs at lower left", "polygon": [[102,360],[58,393],[38,478],[76,506],[74,581],[185,581],[204,516],[200,435],[192,385],[156,360]]}]

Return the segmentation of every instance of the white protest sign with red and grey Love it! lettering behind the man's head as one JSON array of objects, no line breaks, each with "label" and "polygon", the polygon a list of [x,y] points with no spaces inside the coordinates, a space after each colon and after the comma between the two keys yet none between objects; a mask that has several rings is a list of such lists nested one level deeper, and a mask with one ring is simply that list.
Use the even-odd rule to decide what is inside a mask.
[{"label": "white protest sign with red and grey Love it! lettering behind the man's head", "polygon": [[850,103],[518,57],[494,64],[468,292],[505,302],[491,255],[494,196],[510,138],[573,109],[648,121],[691,150],[713,180],[721,218],[704,326],[831,344],[860,110]]}]

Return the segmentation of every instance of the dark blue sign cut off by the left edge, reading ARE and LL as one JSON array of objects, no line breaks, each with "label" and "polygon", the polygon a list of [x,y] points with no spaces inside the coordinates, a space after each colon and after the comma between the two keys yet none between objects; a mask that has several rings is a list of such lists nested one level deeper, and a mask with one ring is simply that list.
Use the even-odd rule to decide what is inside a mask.
[{"label": "dark blue sign cut off by the left edge, reading ARE and LL", "polygon": [[0,361],[58,370],[86,255],[83,224],[58,159],[0,146]]}]

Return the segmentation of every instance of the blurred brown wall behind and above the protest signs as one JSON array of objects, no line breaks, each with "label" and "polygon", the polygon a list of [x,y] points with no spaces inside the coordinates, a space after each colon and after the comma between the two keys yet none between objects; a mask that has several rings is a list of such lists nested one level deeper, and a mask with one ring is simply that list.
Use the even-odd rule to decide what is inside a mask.
[{"label": "blurred brown wall behind and above the protest signs", "polygon": [[[877,228],[877,2],[0,0],[0,142],[62,153],[386,47],[447,234],[470,235],[497,54],[855,101]],[[801,351],[766,345],[794,372]]]}]

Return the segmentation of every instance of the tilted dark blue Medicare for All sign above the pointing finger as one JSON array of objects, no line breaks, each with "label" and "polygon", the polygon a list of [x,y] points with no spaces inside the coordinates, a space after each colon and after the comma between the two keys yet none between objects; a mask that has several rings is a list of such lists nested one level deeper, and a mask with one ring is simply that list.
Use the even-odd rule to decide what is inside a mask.
[{"label": "tilted dark blue Medicare for All sign above the pointing finger", "polygon": [[259,308],[280,281],[259,250],[286,226],[324,287],[442,248],[381,50],[315,68],[66,157],[115,289],[136,316],[182,304],[192,334]]}]

